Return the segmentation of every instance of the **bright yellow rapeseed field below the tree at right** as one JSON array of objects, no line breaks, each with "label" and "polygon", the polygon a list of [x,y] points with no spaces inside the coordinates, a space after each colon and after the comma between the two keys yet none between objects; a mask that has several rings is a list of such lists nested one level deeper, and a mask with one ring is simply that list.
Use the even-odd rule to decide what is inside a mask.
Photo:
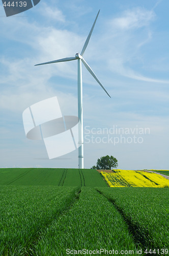
[{"label": "bright yellow rapeseed field below the tree at right", "polygon": [[117,169],[101,174],[109,187],[169,187],[169,180],[155,173]]}]

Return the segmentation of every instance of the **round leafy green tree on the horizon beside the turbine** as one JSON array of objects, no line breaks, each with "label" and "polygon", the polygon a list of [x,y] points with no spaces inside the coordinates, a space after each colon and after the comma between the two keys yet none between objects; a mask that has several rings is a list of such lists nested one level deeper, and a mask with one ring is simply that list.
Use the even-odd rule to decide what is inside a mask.
[{"label": "round leafy green tree on the horizon beside the turbine", "polygon": [[97,159],[96,166],[92,166],[91,169],[104,169],[111,170],[112,168],[118,167],[118,160],[113,156],[105,156]]}]

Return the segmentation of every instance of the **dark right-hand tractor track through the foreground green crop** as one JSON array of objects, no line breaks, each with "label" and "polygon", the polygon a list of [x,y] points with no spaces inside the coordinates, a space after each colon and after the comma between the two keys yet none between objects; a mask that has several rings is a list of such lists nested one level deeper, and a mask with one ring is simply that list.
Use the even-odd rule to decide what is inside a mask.
[{"label": "dark right-hand tractor track through the foreground green crop", "polygon": [[[132,235],[134,243],[136,245],[140,245],[143,250],[146,249],[147,241],[145,240],[145,237],[150,237],[149,233],[146,230],[145,231],[142,230],[142,227],[132,223],[131,220],[125,215],[123,208],[121,208],[119,205],[117,205],[116,200],[109,199],[100,190],[98,190],[98,189],[96,189],[96,190],[98,191],[98,193],[100,195],[102,195],[111,204],[113,204],[115,206],[115,208],[117,209],[117,211],[119,211],[120,215],[122,216],[124,222],[126,223],[126,225],[128,227],[129,233],[131,233],[131,235]],[[154,246],[154,249],[158,249],[158,248],[156,248],[156,246]],[[151,253],[147,253],[146,255],[151,255]]]}]

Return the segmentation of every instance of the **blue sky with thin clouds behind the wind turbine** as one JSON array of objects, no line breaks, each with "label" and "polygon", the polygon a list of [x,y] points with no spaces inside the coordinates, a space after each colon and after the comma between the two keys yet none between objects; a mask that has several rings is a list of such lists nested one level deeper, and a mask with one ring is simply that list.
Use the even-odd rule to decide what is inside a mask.
[{"label": "blue sky with thin clouds behind the wind turbine", "polygon": [[99,9],[84,57],[111,99],[83,66],[84,166],[112,155],[121,169],[168,169],[167,0],[41,0],[11,17],[1,4],[0,167],[78,167],[77,151],[49,160],[43,141],[27,139],[22,113],[57,96],[77,115],[77,62],[34,65],[81,52]]}]

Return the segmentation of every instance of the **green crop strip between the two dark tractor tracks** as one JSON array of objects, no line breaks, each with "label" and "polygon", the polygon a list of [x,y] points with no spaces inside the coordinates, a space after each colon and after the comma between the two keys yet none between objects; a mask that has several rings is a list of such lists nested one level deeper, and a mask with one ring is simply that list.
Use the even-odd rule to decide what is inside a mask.
[{"label": "green crop strip between the two dark tractor tracks", "polygon": [[138,249],[127,224],[114,205],[94,188],[87,187],[81,188],[79,200],[73,207],[44,230],[34,253],[66,255],[66,249],[69,249],[75,255],[76,251],[83,248],[133,250],[135,254]]}]

